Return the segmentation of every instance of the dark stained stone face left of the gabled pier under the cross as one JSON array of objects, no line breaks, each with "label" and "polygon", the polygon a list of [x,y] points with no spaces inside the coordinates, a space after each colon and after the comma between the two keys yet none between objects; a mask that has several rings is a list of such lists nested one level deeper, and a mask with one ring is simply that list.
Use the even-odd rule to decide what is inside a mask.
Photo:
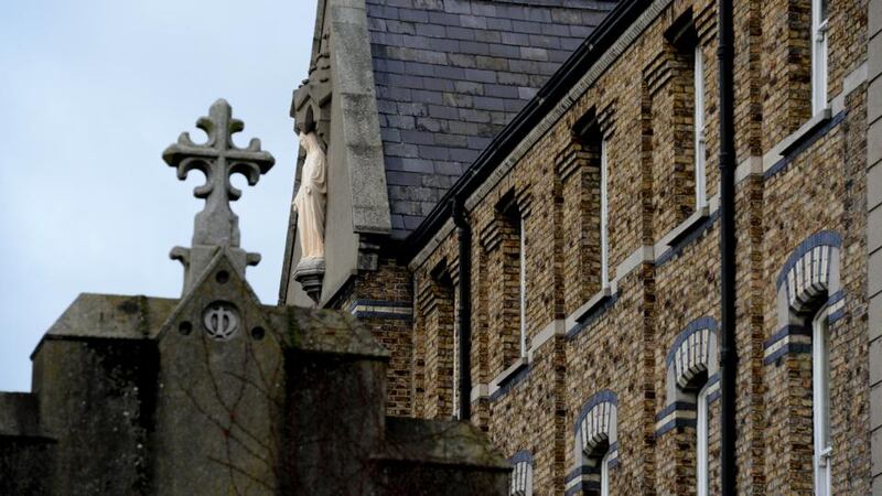
[{"label": "dark stained stone face left of the gabled pier under the cross", "polygon": [[120,338],[44,339],[34,369],[41,430],[57,441],[54,467],[44,474],[52,492],[149,493],[155,346]]}]

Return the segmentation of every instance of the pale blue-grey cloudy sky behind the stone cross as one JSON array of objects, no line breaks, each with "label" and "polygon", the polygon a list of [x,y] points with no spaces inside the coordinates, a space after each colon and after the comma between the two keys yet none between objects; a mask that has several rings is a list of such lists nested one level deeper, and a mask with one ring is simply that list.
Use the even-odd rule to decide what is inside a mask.
[{"label": "pale blue-grey cloudy sky behind the stone cross", "polygon": [[[276,166],[233,205],[248,280],[275,303],[305,76],[311,0],[11,0],[0,15],[0,390],[29,390],[30,354],[80,292],[178,296],[200,173],[161,159],[226,98]],[[195,131],[195,132],[194,132]]]}]

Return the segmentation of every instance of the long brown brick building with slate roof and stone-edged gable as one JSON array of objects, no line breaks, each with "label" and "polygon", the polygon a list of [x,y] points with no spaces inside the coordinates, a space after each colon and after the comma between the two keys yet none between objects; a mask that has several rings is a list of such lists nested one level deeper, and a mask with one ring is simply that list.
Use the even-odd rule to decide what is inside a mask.
[{"label": "long brown brick building with slate roof and stone-edged gable", "polygon": [[[717,2],[366,3],[315,40],[342,61],[329,15],[363,18],[388,226],[320,304],[390,349],[387,411],[456,417],[469,380],[512,494],[718,494]],[[882,494],[882,1],[734,3],[736,492]]]}]

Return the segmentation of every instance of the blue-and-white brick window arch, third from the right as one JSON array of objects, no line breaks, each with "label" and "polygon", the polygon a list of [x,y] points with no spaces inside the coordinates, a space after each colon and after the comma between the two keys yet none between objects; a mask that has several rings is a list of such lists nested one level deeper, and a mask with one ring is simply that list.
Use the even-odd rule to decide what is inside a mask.
[{"label": "blue-and-white brick window arch, third from the right", "polygon": [[[573,425],[576,467],[567,476],[567,495],[595,489],[600,484],[600,460],[609,453],[609,467],[619,465],[619,398],[604,389],[592,396]],[[604,450],[605,448],[605,450]]]}]

